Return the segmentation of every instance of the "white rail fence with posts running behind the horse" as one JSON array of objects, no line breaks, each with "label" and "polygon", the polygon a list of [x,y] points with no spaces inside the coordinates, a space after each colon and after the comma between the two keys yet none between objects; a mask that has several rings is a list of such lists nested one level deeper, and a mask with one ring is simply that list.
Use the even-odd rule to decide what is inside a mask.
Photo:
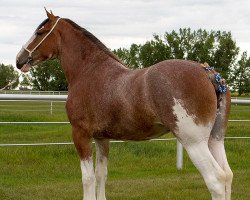
[{"label": "white rail fence with posts running behind the horse", "polygon": [[[0,94],[0,101],[49,101],[51,102],[64,102],[67,99],[67,95],[31,95],[31,94]],[[250,104],[248,99],[232,99],[233,104]],[[52,112],[52,110],[51,110]],[[250,120],[229,120],[231,122],[250,122]],[[0,122],[0,124],[68,124],[69,122]],[[250,137],[226,137],[226,139],[250,139]],[[168,139],[152,139],[150,141],[166,141],[176,140],[176,138]],[[124,141],[111,141],[113,143],[119,143]],[[0,147],[4,146],[44,146],[44,145],[72,145],[72,142],[66,143],[33,143],[33,144],[0,144]],[[181,143],[177,141],[177,155],[176,155],[176,167],[177,169],[183,168],[183,147]]]}]

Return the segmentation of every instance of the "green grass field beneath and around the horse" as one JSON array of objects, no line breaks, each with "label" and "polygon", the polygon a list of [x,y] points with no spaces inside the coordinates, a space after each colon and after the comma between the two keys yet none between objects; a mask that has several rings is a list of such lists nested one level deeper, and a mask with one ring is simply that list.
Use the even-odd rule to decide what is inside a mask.
[{"label": "green grass field beneath and around the horse", "polygon": [[[250,119],[250,106],[232,107],[231,119]],[[0,121],[67,121],[63,103],[0,102]],[[229,123],[227,136],[250,136],[250,123]],[[172,137],[169,134],[166,137]],[[0,125],[0,143],[69,142],[70,126]],[[250,199],[250,140],[225,141],[234,172],[232,199]],[[184,154],[177,171],[176,142],[112,143],[108,200],[211,199]],[[82,199],[79,159],[73,145],[0,147],[1,200]]]}]

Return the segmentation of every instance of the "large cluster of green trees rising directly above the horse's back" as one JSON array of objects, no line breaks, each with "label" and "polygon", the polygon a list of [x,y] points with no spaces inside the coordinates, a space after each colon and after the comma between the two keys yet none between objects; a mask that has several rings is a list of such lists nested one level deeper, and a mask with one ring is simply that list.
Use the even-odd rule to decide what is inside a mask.
[{"label": "large cluster of green trees rising directly above the horse's back", "polygon": [[132,68],[149,67],[166,59],[188,59],[207,62],[227,79],[239,54],[230,32],[206,31],[190,28],[154,35],[145,44],[132,44],[129,49],[114,50]]}]

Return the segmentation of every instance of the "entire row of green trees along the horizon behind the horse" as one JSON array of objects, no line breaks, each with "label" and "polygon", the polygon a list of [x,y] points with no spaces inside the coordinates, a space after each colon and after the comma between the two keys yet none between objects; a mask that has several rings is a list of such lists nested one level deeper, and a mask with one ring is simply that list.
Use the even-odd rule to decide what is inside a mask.
[{"label": "entire row of green trees along the horizon behind the horse", "polygon": [[[250,57],[247,52],[240,52],[231,32],[181,28],[163,36],[154,34],[144,44],[132,44],[113,52],[133,69],[149,67],[167,59],[207,62],[227,80],[232,91],[239,95],[250,92]],[[0,88],[13,89],[19,85],[17,72],[12,66],[0,65],[0,78]],[[29,76],[24,75],[20,87],[65,91],[67,82],[58,60],[50,60],[33,67]]]}]

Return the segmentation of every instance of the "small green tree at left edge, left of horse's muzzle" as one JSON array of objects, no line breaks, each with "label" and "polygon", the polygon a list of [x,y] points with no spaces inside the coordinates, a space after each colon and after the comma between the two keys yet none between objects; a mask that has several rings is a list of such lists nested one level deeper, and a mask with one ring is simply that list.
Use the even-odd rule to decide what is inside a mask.
[{"label": "small green tree at left edge, left of horse's muzzle", "polygon": [[0,64],[0,89],[15,89],[19,84],[19,74],[12,65]]}]

